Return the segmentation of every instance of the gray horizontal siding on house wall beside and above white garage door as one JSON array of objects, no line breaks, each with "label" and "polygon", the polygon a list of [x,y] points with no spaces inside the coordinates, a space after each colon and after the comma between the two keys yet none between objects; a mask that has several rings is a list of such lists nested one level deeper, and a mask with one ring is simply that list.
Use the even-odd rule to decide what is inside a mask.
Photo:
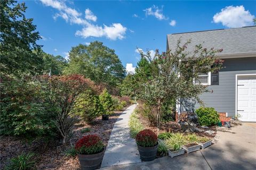
[{"label": "gray horizontal siding on house wall beside and above white garage door", "polygon": [[[219,85],[211,85],[212,93],[204,93],[201,99],[205,107],[213,107],[218,112],[228,112],[235,116],[236,109],[236,74],[256,74],[256,57],[225,59],[219,72]],[[195,109],[199,104],[195,105]]]}]

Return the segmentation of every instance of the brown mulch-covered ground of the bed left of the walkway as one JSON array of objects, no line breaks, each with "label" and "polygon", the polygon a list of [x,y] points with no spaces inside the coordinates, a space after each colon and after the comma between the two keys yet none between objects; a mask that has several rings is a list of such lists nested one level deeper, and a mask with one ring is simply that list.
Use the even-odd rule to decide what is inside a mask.
[{"label": "brown mulch-covered ground of the bed left of the walkway", "polygon": [[[115,111],[109,116],[109,120],[101,120],[101,116],[95,119],[92,125],[81,122],[76,124],[73,132],[67,140],[67,143],[61,145],[58,141],[34,141],[27,143],[18,137],[0,136],[0,169],[3,169],[9,160],[20,155],[22,152],[33,152],[36,154],[37,169],[81,169],[78,158],[70,158],[65,156],[65,150],[71,148],[75,142],[81,137],[89,134],[97,134],[102,138],[102,141],[107,145],[111,131],[118,117],[127,109],[126,106],[122,111]],[[82,133],[83,128],[89,127],[90,132]]]}]

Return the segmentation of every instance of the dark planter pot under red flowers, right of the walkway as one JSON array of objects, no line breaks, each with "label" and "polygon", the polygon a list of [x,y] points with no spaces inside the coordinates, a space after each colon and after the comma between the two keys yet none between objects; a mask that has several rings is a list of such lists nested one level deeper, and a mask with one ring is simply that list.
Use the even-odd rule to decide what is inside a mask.
[{"label": "dark planter pot under red flowers, right of the walkway", "polygon": [[137,146],[138,146],[141,160],[151,161],[155,159],[158,143],[154,147],[141,147],[138,144]]}]

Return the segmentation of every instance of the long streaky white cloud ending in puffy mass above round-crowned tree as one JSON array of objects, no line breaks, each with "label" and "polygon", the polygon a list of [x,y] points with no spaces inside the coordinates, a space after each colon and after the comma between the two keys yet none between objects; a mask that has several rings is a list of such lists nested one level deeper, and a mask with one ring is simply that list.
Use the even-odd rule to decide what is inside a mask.
[{"label": "long streaky white cloud ending in puffy mass above round-crowned tree", "polygon": [[88,20],[96,21],[97,17],[92,13],[90,9],[85,10],[85,19],[81,16],[82,14],[77,12],[75,9],[71,9],[65,4],[65,1],[55,0],[41,0],[46,6],[51,6],[54,9],[59,10],[59,13],[54,15],[54,19],[61,17],[66,22],[75,23],[82,25],[82,30],[77,30],[75,35],[83,38],[87,37],[107,37],[112,40],[125,38],[127,28],[122,26],[121,23],[112,23],[110,26],[98,26],[93,25]]}]

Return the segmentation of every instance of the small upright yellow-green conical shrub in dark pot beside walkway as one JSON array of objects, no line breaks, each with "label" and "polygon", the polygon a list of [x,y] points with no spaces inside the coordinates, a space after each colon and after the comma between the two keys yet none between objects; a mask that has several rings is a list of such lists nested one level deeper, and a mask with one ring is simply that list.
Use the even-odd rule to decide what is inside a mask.
[{"label": "small upright yellow-green conical shrub in dark pot beside walkway", "polygon": [[114,108],[113,108],[113,101],[111,95],[108,93],[107,89],[103,90],[103,92],[99,96],[100,102],[105,109],[105,114],[110,115]]}]

